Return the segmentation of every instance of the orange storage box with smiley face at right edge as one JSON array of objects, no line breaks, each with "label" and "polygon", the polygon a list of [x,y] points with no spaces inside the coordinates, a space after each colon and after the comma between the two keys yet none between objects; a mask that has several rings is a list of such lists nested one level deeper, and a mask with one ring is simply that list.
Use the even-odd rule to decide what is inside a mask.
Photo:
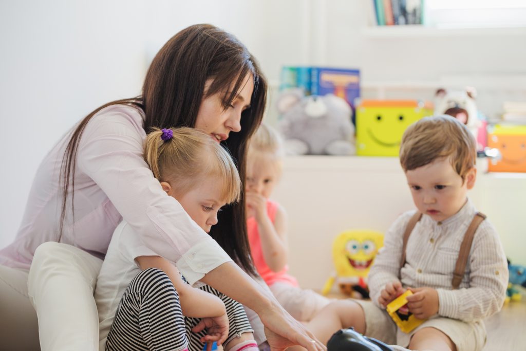
[{"label": "orange storage box with smiley face at right edge", "polygon": [[488,161],[488,172],[526,172],[526,126],[489,127],[488,147],[500,152],[500,158]]}]

